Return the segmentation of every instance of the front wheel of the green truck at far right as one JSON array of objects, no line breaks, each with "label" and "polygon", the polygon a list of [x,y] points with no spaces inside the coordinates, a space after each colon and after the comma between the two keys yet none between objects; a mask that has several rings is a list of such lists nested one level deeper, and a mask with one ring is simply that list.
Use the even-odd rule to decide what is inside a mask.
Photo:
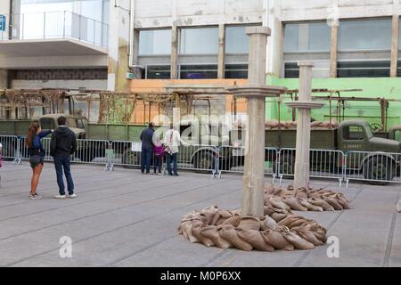
[{"label": "front wheel of the green truck at far right", "polygon": [[386,157],[374,157],[364,163],[363,171],[365,179],[379,180],[368,181],[368,183],[372,185],[386,185],[389,182],[385,181],[393,180],[396,175],[396,164],[393,160]]}]

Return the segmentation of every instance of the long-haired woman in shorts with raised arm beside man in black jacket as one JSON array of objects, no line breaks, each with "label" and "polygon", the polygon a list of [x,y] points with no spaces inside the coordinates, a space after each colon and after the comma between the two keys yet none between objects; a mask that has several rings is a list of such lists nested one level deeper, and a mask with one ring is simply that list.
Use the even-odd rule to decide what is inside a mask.
[{"label": "long-haired woman in shorts with raised arm beside man in black jacket", "polygon": [[32,179],[30,181],[29,199],[41,199],[37,194],[37,183],[42,173],[45,151],[41,139],[52,134],[52,130],[42,131],[38,122],[33,122],[28,129],[26,145],[28,147],[30,167],[32,167]]}]

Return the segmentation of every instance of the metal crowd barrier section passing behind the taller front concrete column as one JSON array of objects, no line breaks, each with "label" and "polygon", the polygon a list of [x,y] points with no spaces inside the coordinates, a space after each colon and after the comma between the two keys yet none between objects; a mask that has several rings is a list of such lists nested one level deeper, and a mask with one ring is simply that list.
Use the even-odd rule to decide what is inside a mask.
[{"label": "metal crowd barrier section passing behind the taller front concrete column", "polygon": [[[243,174],[245,165],[245,147],[220,146],[218,148],[220,159],[218,161],[218,174],[238,173]],[[276,177],[277,149],[265,149],[265,175]]]}]

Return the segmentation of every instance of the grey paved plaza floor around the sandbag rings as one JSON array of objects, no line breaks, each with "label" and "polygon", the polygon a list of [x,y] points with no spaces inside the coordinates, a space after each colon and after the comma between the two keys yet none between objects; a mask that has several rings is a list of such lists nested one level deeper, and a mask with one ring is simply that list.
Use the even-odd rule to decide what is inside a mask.
[{"label": "grey paved plaza floor around the sandbag rings", "polygon": [[[29,164],[0,168],[0,266],[401,266],[401,186],[313,180],[314,187],[343,191],[351,210],[299,213],[340,240],[292,252],[243,252],[206,248],[177,234],[181,217],[193,209],[241,207],[241,175],[181,172],[178,177],[142,175],[135,169],[74,165],[77,199],[53,199],[55,171],[45,164],[38,192],[29,200]],[[271,183],[266,178],[266,183]],[[291,183],[291,181],[283,181]],[[61,237],[72,240],[72,257],[61,258]]]}]

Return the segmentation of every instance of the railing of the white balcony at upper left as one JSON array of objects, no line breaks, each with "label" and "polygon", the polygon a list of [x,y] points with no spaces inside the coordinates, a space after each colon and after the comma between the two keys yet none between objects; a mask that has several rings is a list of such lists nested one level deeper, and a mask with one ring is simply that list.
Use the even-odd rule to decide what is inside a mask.
[{"label": "railing of the white balcony at upper left", "polygon": [[[29,12],[5,15],[7,27],[0,30],[0,40],[74,38],[92,45],[107,47],[109,26],[80,14]],[[10,25],[9,25],[10,23]],[[12,29],[10,35],[9,28]]]}]

